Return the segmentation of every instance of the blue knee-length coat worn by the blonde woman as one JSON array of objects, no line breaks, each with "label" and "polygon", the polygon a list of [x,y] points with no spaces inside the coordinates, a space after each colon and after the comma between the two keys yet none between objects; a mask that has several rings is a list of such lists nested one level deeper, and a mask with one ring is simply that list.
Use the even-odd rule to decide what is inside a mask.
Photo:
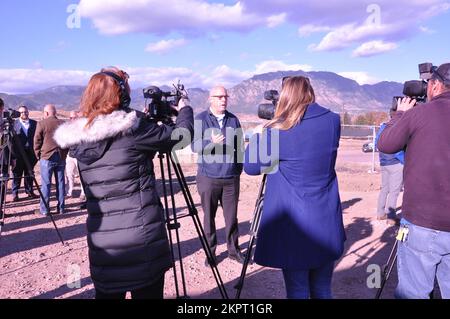
[{"label": "blue knee-length coat worn by the blonde woman", "polygon": [[[289,130],[268,130],[255,135],[246,149],[244,170],[267,176],[261,224],[255,250],[256,263],[282,269],[311,269],[338,259],[345,232],[335,171],[340,139],[340,119],[318,104],[311,104],[303,120]],[[271,136],[279,133],[271,141]],[[264,152],[270,161],[252,150]],[[276,150],[278,141],[279,152]],[[259,153],[258,153],[259,154]]]}]

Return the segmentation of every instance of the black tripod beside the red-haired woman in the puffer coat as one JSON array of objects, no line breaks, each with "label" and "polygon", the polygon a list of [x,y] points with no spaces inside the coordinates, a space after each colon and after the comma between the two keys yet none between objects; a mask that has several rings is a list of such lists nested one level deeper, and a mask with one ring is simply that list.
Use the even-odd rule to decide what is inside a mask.
[{"label": "black tripod beside the red-haired woman in the puffer coat", "polygon": [[[179,219],[184,217],[192,217],[192,220],[195,225],[195,229],[198,234],[198,238],[200,239],[200,242],[202,244],[203,250],[205,251],[206,257],[209,261],[209,265],[211,266],[211,270],[214,275],[214,279],[216,280],[217,287],[219,288],[220,294],[223,299],[228,299],[227,291],[225,289],[225,286],[223,284],[222,278],[220,277],[219,269],[217,268],[216,263],[214,262],[213,255],[211,252],[211,249],[208,245],[208,242],[206,240],[206,235],[203,230],[203,227],[200,223],[200,218],[198,217],[197,209],[195,208],[194,200],[192,199],[192,195],[189,191],[189,187],[187,185],[186,179],[184,177],[183,171],[181,169],[181,165],[178,161],[178,158],[174,152],[159,152],[158,154],[159,158],[159,164],[161,167],[161,180],[162,180],[162,186],[163,186],[163,193],[164,193],[164,211],[166,215],[166,225],[169,233],[169,243],[170,243],[170,251],[172,254],[172,261],[173,261],[173,274],[174,274],[174,281],[175,281],[175,290],[177,294],[177,299],[186,299],[187,291],[186,291],[186,279],[184,276],[184,267],[183,267],[183,258],[181,256],[181,244],[180,244],[180,234],[179,234],[179,228],[180,223]],[[172,201],[172,214],[170,214],[170,208],[168,203],[168,192],[166,189],[166,178],[165,178],[165,170],[164,170],[164,158],[166,158],[166,169],[167,169],[167,175],[168,175],[168,186],[169,186],[169,192],[170,192],[170,198]],[[188,213],[182,216],[177,216],[176,211],[176,205],[175,205],[175,196],[173,191],[173,179],[172,179],[172,169],[175,171],[175,175],[178,180],[178,184],[180,185],[181,191],[183,193],[184,200],[186,202],[186,206],[188,208]],[[174,250],[174,240],[172,237],[172,232],[175,232],[175,240],[176,240],[176,248],[177,248],[177,257],[179,261],[179,268],[180,268],[180,274],[181,274],[181,285],[183,289],[183,295],[180,296],[179,286],[178,286],[178,274],[177,274],[177,265],[175,263],[175,250]]]}]

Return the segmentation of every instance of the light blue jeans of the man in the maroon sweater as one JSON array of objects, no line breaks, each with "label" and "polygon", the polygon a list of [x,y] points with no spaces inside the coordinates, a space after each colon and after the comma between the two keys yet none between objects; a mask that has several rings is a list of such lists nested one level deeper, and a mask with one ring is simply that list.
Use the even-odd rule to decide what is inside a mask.
[{"label": "light blue jeans of the man in the maroon sweater", "polygon": [[397,252],[399,299],[429,299],[437,277],[442,298],[450,299],[450,232],[420,227],[402,220],[408,227],[406,241]]}]

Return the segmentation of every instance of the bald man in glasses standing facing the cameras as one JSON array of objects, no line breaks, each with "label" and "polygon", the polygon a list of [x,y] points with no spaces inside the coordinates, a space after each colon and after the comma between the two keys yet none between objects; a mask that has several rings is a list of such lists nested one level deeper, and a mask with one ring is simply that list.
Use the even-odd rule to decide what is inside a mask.
[{"label": "bald man in glasses standing facing the cameras", "polygon": [[[223,86],[210,92],[210,107],[196,116],[196,137],[192,149],[199,154],[197,187],[204,212],[205,234],[215,258],[217,235],[215,217],[219,202],[223,208],[228,257],[244,262],[238,238],[238,202],[243,154],[242,129],[238,118],[227,111],[228,93]],[[240,138],[236,133],[241,132]],[[239,134],[238,134],[239,135]],[[242,156],[241,156],[242,157]],[[209,263],[205,261],[205,265]]]}]

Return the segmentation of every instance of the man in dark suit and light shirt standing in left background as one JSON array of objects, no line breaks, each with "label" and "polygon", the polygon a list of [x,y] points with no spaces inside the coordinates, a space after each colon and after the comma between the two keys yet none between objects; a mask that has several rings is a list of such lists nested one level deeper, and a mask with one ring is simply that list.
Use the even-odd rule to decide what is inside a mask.
[{"label": "man in dark suit and light shirt standing in left background", "polygon": [[12,194],[14,202],[19,200],[19,188],[22,182],[22,176],[24,177],[25,193],[27,193],[28,198],[38,197],[33,192],[33,176],[30,175],[27,165],[25,164],[25,161],[28,161],[31,165],[31,169],[34,169],[34,166],[37,163],[33,150],[33,140],[37,123],[35,120],[29,118],[28,108],[25,105],[19,107],[19,112],[20,117],[14,122],[14,132],[17,135],[20,145],[23,147],[26,159],[23,158],[19,150],[14,147],[12,165],[12,172],[14,175],[12,181]]}]

